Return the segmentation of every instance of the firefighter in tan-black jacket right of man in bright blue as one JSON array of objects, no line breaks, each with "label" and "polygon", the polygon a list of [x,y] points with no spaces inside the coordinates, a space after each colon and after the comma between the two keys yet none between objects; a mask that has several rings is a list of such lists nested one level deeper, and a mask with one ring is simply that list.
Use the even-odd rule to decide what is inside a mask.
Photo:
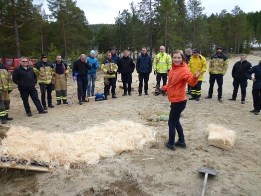
[{"label": "firefighter in tan-black jacket right of man in bright blue", "polygon": [[107,95],[110,90],[111,85],[111,98],[117,98],[115,95],[116,88],[116,72],[118,70],[118,66],[114,60],[111,59],[112,54],[110,51],[106,53],[106,59],[103,60],[101,64],[101,70],[104,72],[104,97],[107,100]]}]

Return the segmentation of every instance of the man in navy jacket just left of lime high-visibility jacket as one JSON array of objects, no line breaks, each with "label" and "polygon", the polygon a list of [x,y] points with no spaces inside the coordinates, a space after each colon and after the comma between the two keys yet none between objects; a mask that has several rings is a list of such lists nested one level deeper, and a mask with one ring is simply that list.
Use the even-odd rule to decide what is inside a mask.
[{"label": "man in navy jacket just left of lime high-visibility jacket", "polygon": [[147,48],[143,47],[141,49],[141,55],[138,57],[136,62],[136,71],[139,74],[139,96],[142,94],[142,86],[144,79],[144,93],[148,94],[148,81],[150,73],[152,71],[152,60],[151,57],[147,54]]}]

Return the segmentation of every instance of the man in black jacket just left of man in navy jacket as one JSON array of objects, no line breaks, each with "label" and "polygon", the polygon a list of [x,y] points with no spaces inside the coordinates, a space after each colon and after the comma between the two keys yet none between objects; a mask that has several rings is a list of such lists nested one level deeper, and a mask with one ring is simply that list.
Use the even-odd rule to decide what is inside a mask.
[{"label": "man in black jacket just left of man in navy jacket", "polygon": [[128,94],[131,95],[131,83],[132,83],[132,73],[135,68],[133,59],[129,57],[129,51],[123,51],[124,56],[120,58],[118,64],[118,72],[121,74],[121,80],[123,83],[123,94],[122,96],[127,95],[127,84],[128,84]]}]

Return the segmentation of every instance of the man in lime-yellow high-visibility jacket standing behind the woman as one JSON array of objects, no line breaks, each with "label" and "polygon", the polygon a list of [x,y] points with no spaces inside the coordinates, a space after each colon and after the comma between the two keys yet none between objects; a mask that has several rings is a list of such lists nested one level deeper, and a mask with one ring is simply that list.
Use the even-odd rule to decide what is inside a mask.
[{"label": "man in lime-yellow high-visibility jacket standing behind the woman", "polygon": [[[158,53],[153,60],[154,75],[156,75],[157,86],[160,87],[161,78],[163,80],[163,86],[167,84],[167,75],[172,66],[172,60],[169,54],[165,52],[165,47],[160,46],[160,53]],[[155,96],[159,93],[155,92]],[[163,96],[166,96],[165,92]]]}]

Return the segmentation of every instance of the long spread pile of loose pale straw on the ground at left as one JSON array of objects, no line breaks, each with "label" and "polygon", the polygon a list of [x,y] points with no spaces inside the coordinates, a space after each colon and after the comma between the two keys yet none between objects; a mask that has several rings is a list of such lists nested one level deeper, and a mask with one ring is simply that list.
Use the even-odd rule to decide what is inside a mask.
[{"label": "long spread pile of loose pale straw on the ground at left", "polygon": [[74,133],[47,133],[11,126],[0,143],[0,157],[50,163],[59,170],[94,165],[102,157],[141,150],[155,132],[132,121],[113,121]]}]

